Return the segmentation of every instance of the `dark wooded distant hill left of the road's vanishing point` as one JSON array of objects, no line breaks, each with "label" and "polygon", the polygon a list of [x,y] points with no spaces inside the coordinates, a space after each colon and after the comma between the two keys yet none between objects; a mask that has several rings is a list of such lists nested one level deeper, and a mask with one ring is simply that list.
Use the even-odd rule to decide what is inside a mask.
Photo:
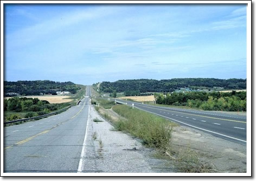
[{"label": "dark wooded distant hill left of the road's vanishing point", "polygon": [[[18,93],[21,95],[56,94],[56,91],[76,93],[80,87],[73,82],[55,82],[49,80],[36,81],[4,81],[4,94]],[[13,94],[14,95],[14,94]]]}]

